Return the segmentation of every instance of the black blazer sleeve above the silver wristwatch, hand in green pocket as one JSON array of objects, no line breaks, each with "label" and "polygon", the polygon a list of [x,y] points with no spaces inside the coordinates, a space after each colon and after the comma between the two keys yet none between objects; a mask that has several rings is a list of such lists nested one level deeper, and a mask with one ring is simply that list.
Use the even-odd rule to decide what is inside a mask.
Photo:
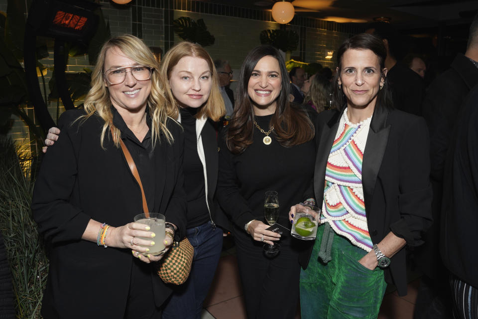
[{"label": "black blazer sleeve above the silver wristwatch, hand in green pocket", "polygon": [[410,246],[423,244],[422,232],[432,224],[428,130],[423,118],[414,117],[404,130],[399,147],[400,219],[391,231]]}]

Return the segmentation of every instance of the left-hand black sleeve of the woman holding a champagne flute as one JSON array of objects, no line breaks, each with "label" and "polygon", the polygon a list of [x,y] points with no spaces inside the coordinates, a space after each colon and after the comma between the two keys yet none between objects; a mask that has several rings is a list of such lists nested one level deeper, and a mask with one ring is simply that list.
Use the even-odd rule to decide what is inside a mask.
[{"label": "left-hand black sleeve of the woman holding a champagne flute", "polygon": [[234,167],[234,155],[229,151],[226,142],[227,128],[219,137],[219,176],[216,196],[224,212],[229,215],[232,221],[240,228],[254,219],[247,201],[239,192],[239,184]]}]

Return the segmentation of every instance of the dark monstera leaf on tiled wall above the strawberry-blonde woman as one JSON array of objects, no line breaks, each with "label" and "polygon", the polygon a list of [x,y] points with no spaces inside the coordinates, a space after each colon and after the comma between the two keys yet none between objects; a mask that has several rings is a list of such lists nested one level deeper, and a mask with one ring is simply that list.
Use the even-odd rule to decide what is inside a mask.
[{"label": "dark monstera leaf on tiled wall above the strawberry-blonde woman", "polygon": [[181,16],[173,20],[174,32],[183,40],[198,43],[202,46],[213,45],[214,35],[209,33],[203,19],[194,21],[188,16]]}]

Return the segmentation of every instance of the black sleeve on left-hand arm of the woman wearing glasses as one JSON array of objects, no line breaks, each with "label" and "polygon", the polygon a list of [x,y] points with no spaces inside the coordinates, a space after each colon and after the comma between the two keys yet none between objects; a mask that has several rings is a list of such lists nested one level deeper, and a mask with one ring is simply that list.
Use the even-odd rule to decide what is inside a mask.
[{"label": "black sleeve on left-hand arm of the woman wearing glasses", "polygon": [[81,142],[77,111],[64,112],[59,121],[62,128],[58,141],[48,148],[36,178],[31,210],[41,234],[58,243],[80,240],[91,217],[69,199],[77,177],[78,154],[75,145]]}]

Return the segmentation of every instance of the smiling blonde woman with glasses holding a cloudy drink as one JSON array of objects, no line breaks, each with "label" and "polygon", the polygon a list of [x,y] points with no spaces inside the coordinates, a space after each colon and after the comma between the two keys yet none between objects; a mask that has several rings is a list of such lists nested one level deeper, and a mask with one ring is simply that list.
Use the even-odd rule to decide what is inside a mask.
[{"label": "smiling blonde woman with glasses holding a cloudy drink", "polygon": [[132,222],[141,192],[119,149],[122,141],[136,164],[149,211],[170,223],[168,247],[185,234],[183,136],[164,107],[158,68],[140,39],[109,40],[84,110],[60,118],[32,199],[50,259],[44,318],[158,318],[171,292],[152,265],[161,256],[148,253],[164,234]]}]

